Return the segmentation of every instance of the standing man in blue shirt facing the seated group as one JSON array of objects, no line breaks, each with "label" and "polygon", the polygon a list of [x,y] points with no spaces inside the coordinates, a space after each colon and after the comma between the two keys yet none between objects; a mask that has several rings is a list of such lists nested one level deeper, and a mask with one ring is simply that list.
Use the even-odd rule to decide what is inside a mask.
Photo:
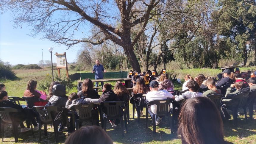
[{"label": "standing man in blue shirt facing the seated group", "polygon": [[[95,79],[103,79],[103,72],[105,73],[106,70],[104,70],[103,65],[99,64],[99,60],[95,61],[96,65],[93,66],[92,73],[95,72]],[[95,83],[95,87],[98,87],[99,82]],[[101,82],[101,86],[103,87],[104,82]],[[98,90],[98,89],[95,89]]]}]

